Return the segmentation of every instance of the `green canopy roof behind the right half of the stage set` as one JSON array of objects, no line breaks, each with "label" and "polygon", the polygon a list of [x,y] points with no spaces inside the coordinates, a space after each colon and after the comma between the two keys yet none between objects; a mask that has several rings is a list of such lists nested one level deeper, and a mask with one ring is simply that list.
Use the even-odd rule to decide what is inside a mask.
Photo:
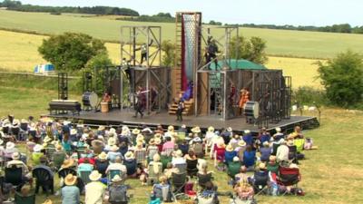
[{"label": "green canopy roof behind the right half of the stage set", "polygon": [[[231,59],[231,61],[226,61],[230,64],[232,70],[265,70],[267,69],[264,65],[258,63],[252,63],[248,60],[236,60]],[[223,67],[224,61],[218,62],[218,70]],[[211,63],[211,70],[215,70],[215,63]]]}]

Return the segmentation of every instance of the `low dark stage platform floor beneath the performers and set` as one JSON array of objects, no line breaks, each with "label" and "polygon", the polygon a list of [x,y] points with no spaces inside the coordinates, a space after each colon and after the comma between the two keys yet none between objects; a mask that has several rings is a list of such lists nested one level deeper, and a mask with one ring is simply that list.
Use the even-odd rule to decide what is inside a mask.
[{"label": "low dark stage platform floor beneath the performers and set", "polygon": [[[79,115],[69,114],[47,114],[46,116],[58,119],[66,119],[74,121],[76,123],[83,122],[84,124],[90,125],[128,125],[129,127],[139,127],[142,124],[146,124],[149,127],[156,127],[158,124],[162,124],[164,128],[172,125],[176,129],[182,124],[185,124],[188,128],[194,126],[200,126],[201,130],[206,130],[208,127],[213,126],[216,130],[221,128],[231,127],[233,131],[242,132],[250,130],[254,133],[259,131],[257,125],[246,123],[244,117],[231,119],[228,121],[222,121],[218,117],[194,117],[194,116],[183,116],[183,121],[176,121],[175,115],[170,115],[168,112],[152,112],[150,115],[144,115],[143,118],[132,117],[134,112],[120,110],[113,110],[112,112],[80,112]],[[303,130],[312,129],[319,126],[319,121],[316,117],[309,116],[291,116],[289,120],[282,120],[279,123],[270,123],[268,130],[273,131],[275,128],[280,127],[283,131],[292,131],[294,126],[300,125]]]}]

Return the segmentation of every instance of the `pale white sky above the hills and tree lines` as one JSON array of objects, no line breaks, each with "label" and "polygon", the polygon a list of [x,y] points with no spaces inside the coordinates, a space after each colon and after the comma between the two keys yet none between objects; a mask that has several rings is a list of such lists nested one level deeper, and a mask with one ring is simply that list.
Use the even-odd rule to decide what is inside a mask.
[{"label": "pale white sky above the hills and tree lines", "polygon": [[131,8],[140,15],[202,12],[204,22],[228,24],[363,25],[363,0],[21,0],[31,5]]}]

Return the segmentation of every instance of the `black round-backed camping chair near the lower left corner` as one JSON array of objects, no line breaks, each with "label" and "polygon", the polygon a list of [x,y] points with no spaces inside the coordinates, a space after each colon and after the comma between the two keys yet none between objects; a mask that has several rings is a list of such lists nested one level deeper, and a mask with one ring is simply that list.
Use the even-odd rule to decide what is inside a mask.
[{"label": "black round-backed camping chair near the lower left corner", "polygon": [[43,188],[46,196],[48,196],[48,189],[54,194],[54,179],[48,170],[36,168],[33,170],[33,177],[36,179],[35,194],[38,194],[39,187]]}]

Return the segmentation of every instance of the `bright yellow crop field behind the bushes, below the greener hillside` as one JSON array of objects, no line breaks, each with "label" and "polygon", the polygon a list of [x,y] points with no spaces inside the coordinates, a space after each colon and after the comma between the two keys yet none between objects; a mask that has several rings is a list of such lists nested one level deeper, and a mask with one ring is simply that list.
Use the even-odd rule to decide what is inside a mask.
[{"label": "bright yellow crop field behind the bushes, below the greener hillside", "polygon": [[[0,31],[0,69],[13,72],[33,72],[34,66],[44,63],[37,48],[46,36],[35,34],[21,34]],[[120,45],[106,44],[113,63],[120,63]],[[319,86],[319,81],[314,81],[317,74],[316,60],[269,57],[267,66],[282,69],[285,75],[292,76],[293,87],[302,85]]]}]

